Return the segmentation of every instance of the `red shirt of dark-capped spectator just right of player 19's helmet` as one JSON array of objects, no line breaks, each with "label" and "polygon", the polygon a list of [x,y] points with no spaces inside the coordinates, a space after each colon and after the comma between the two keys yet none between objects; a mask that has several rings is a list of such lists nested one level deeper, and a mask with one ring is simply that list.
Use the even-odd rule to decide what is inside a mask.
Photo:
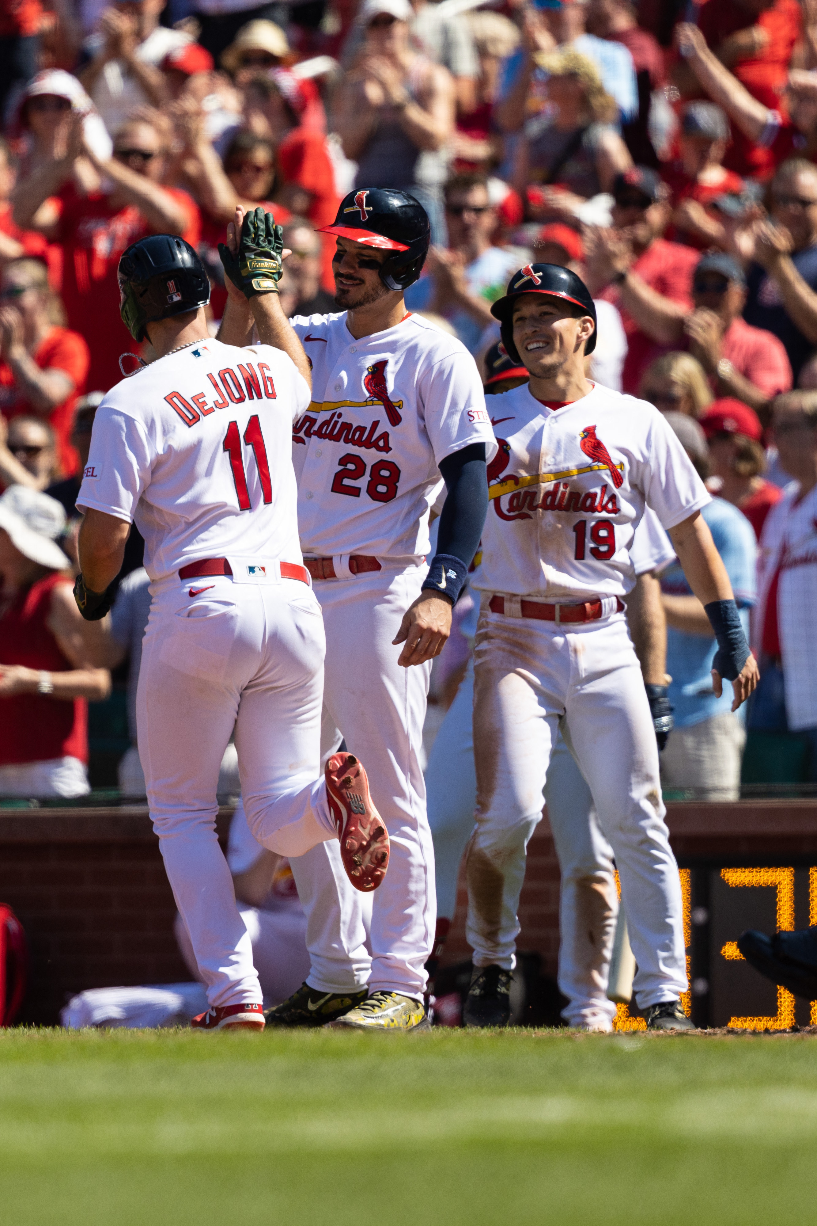
[{"label": "red shirt of dark-capped spectator just right of player 19's helmet", "polygon": [[[680,243],[668,243],[663,238],[657,238],[646,251],[642,251],[631,271],[663,298],[692,310],[692,273],[698,260],[698,251],[693,246],[682,246]],[[608,286],[599,298],[612,303],[621,311],[628,345],[621,386],[628,395],[637,396],[641,376],[649,363],[661,353],[668,353],[671,346],[658,345],[639,330],[632,315],[621,305],[621,291],[617,286]]]}]

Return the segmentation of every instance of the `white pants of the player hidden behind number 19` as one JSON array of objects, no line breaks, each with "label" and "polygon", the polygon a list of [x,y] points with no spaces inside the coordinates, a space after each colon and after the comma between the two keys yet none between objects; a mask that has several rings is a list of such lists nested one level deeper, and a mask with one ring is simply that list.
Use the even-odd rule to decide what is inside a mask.
[{"label": "white pants of the player hidden behind number 19", "polygon": [[[453,920],[459,863],[474,829],[474,662],[435,738],[425,771],[429,825],[434,837],[437,915]],[[601,834],[593,797],[560,734],[545,783],[548,820],[561,868],[559,987],[571,1026],[609,1029],[608,972],[619,910],[612,850]]]}]

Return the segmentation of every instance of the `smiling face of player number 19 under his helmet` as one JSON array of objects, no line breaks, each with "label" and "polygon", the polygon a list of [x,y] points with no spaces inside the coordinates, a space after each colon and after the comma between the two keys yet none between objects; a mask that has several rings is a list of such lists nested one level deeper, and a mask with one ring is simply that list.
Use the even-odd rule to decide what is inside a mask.
[{"label": "smiling face of player number 19 under his helmet", "polygon": [[565,367],[582,368],[593,335],[589,315],[548,294],[522,294],[513,303],[513,343],[534,379],[552,379]]}]

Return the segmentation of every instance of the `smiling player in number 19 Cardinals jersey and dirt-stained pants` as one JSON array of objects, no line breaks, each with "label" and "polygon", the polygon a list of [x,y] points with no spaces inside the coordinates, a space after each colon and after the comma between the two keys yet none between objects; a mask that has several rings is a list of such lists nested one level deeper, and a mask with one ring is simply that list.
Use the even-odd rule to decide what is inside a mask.
[{"label": "smiling player in number 19 Cardinals jersey and dirt-stained pants", "polygon": [[[709,500],[660,413],[593,385],[595,310],[574,272],[527,265],[494,304],[528,386],[494,398],[506,463],[490,488],[474,586],[476,825],[467,850],[474,975],[465,1016],[507,1021],[525,846],[561,727],[612,847],[650,1029],[686,1029],[677,866],[664,824],[649,702],[623,617],[644,506],[669,532],[718,640],[713,688],[757,684],[729,579],[699,510]],[[497,424],[499,430],[499,424]]]}]

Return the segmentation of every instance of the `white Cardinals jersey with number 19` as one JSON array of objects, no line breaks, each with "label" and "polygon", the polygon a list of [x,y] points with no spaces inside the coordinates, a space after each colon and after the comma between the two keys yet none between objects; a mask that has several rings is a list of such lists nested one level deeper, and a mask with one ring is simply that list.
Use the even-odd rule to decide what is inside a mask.
[{"label": "white Cardinals jersey with number 19", "polygon": [[626,596],[644,506],[665,528],[709,494],[661,414],[595,385],[550,409],[528,385],[491,403],[499,452],[474,586],[540,598]]}]

